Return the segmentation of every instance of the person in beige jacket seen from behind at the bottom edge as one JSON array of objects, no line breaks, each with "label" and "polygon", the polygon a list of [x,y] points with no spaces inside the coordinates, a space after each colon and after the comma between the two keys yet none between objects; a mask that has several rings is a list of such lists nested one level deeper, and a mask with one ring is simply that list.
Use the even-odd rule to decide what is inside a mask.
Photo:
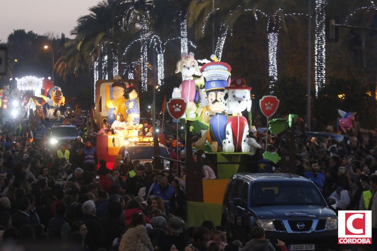
[{"label": "person in beige jacket seen from behind at the bottom edge", "polygon": [[145,227],[144,214],[134,213],[129,230],[122,236],[119,251],[144,251],[146,249],[154,250]]}]

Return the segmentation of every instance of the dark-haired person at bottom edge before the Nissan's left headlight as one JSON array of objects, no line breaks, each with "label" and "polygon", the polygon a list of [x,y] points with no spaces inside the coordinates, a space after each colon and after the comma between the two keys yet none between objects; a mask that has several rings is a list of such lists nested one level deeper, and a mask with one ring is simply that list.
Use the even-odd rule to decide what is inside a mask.
[{"label": "dark-haired person at bottom edge before the Nissan's left headlight", "polygon": [[[265,231],[261,227],[254,227],[251,230],[251,240],[246,243],[245,247],[241,251],[275,251],[274,246],[269,239],[266,239]],[[288,251],[284,242],[277,240],[276,246],[280,246],[281,251]]]}]

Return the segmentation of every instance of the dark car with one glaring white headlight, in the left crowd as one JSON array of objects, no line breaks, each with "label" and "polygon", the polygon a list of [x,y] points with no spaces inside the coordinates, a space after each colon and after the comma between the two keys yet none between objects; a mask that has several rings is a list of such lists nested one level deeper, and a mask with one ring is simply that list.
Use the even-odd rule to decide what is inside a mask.
[{"label": "dark car with one glaring white headlight, in the left crowd", "polygon": [[51,146],[59,146],[63,142],[76,140],[79,137],[80,134],[74,125],[53,125],[48,143]]}]

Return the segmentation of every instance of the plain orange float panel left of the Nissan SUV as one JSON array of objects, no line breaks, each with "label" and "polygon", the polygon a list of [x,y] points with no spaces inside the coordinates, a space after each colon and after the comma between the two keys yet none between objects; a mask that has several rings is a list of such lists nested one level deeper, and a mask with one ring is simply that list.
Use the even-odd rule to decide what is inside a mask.
[{"label": "plain orange float panel left of the Nissan SUV", "polygon": [[203,202],[222,204],[228,181],[228,179],[203,180]]}]

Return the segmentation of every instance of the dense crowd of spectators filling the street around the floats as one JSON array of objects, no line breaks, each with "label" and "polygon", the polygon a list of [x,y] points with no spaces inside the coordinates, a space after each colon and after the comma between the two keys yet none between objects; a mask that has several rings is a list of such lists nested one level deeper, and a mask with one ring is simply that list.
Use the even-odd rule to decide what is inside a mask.
[{"label": "dense crowd of spectators filling the street around the floats", "polygon": [[[100,131],[89,122],[81,127],[88,132]],[[107,133],[105,127],[102,130]],[[251,154],[260,159],[265,138],[256,130],[250,133],[254,146]],[[154,170],[152,163],[132,161],[127,154],[109,170],[106,161],[97,160],[87,138],[47,149],[39,134],[38,128],[31,130],[28,125],[10,122],[0,128],[2,244],[68,243],[77,250],[90,251],[287,250],[284,242],[265,239],[259,227],[251,231],[248,243],[234,236],[227,239],[225,228],[210,221],[188,228],[184,188],[174,176]],[[194,136],[193,143],[197,139]],[[286,151],[288,156],[286,140],[284,135],[271,135],[268,151],[279,155]],[[344,137],[338,142],[331,138],[311,140],[302,132],[295,141],[297,174],[312,180],[325,198],[335,198],[334,210],[372,210],[375,236],[375,135],[370,134],[367,141]],[[168,135],[166,146],[170,154],[185,160],[184,140]],[[195,149],[193,153],[197,158]],[[279,163],[271,170],[280,172]],[[182,166],[182,176],[184,171]],[[204,165],[203,178],[216,178],[215,167]]]}]

